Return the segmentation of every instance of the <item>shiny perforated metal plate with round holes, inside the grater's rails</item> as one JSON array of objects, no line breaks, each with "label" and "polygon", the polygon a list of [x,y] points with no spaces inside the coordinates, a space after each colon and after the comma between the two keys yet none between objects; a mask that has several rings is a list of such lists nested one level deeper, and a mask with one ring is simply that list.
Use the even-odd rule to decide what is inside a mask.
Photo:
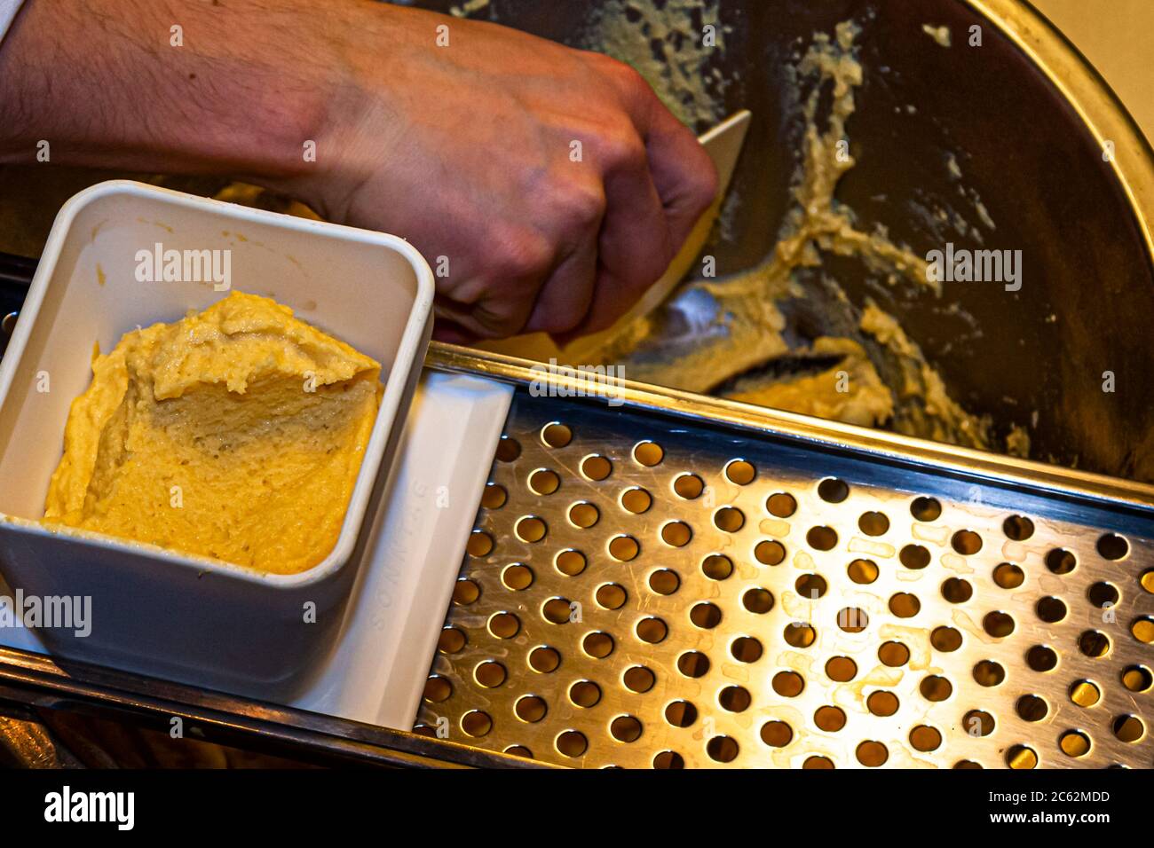
[{"label": "shiny perforated metal plate with round holes, inside the grater's rails", "polygon": [[585,767],[1149,767],[1152,535],[522,390],[417,727]]}]

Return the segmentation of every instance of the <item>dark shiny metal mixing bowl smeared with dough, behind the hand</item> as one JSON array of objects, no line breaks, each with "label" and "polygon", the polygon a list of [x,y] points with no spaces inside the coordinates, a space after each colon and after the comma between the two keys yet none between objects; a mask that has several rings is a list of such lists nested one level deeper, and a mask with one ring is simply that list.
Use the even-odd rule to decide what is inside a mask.
[{"label": "dark shiny metal mixing bowl smeared with dough, behind the hand", "polygon": [[[661,0],[638,0],[664,7]],[[450,0],[420,2],[449,10]],[[790,207],[801,126],[788,68],[815,32],[856,21],[864,82],[849,122],[857,165],[838,198],[860,228],[887,227],[915,253],[1020,249],[1022,286],[947,286],[941,301],[870,279],[860,262],[826,257],[825,271],[861,305],[898,316],[967,410],[1005,434],[1024,426],[1032,457],[1154,479],[1154,155],[1112,92],[1077,51],[1018,0],[704,0],[727,27],[707,69],[728,81],[719,113],[752,110],[734,175],[735,215],[705,253],[719,275],[755,265]],[[590,43],[600,0],[492,0],[473,17],[575,46]],[[923,24],[947,25],[945,50]],[[981,46],[971,46],[972,27]],[[909,106],[914,108],[911,110]],[[484,120],[482,115],[478,120]],[[704,127],[696,127],[700,130]],[[1111,142],[1112,157],[1104,142]],[[944,166],[996,222],[984,243],[944,227],[930,210],[958,208]],[[950,308],[957,303],[960,308]],[[820,301],[790,305],[797,333],[830,327]],[[1103,391],[1106,373],[1114,392]],[[1032,419],[1036,412],[1036,426]]]}]

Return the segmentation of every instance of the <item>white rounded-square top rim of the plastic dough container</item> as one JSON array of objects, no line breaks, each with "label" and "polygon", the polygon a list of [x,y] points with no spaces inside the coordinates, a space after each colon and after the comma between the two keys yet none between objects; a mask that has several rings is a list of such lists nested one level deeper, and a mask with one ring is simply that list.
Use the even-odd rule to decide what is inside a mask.
[{"label": "white rounded-square top rim of the plastic dough container", "polygon": [[0,407],[8,399],[9,389],[15,378],[20,361],[23,358],[24,348],[31,337],[32,327],[39,316],[47,287],[55,275],[61,250],[74,232],[73,225],[76,216],[90,203],[111,196],[143,196],[178,208],[209,212],[210,215],[216,215],[232,222],[258,223],[280,230],[320,233],[338,241],[376,245],[390,248],[409,261],[417,283],[413,306],[405,322],[404,331],[400,335],[392,368],[389,369],[388,376],[383,382],[384,389],[381,396],[381,404],[377,408],[369,441],[365,446],[365,455],[349,498],[345,517],[340,525],[340,533],[332,550],[316,565],[297,573],[282,575],[260,571],[247,565],[213,560],[197,554],[175,551],[147,542],[120,539],[93,531],[63,525],[45,526],[32,519],[8,516],[3,512],[0,512],[0,532],[15,532],[42,539],[67,538],[77,543],[95,546],[113,553],[148,557],[165,563],[168,566],[194,569],[201,573],[218,573],[222,577],[240,579],[279,590],[295,590],[309,586],[340,571],[352,558],[377,478],[382,473],[388,473],[388,468],[382,467],[384,465],[384,453],[394,428],[404,423],[403,420],[397,420],[397,413],[406,393],[407,383],[413,369],[420,368],[424,361],[425,348],[428,344],[427,331],[430,327],[429,320],[435,292],[433,271],[428,262],[407,240],[389,233],[313,220],[310,218],[298,218],[263,209],[252,209],[235,203],[197,197],[183,192],[150,186],[135,180],[106,180],[98,182],[69,197],[60,208],[52,223],[52,230],[45,243],[44,253],[36,269],[36,275],[32,277],[24,306],[21,309],[21,321],[16,322],[15,331],[8,343],[8,350],[5,352],[6,355],[0,360]]}]

